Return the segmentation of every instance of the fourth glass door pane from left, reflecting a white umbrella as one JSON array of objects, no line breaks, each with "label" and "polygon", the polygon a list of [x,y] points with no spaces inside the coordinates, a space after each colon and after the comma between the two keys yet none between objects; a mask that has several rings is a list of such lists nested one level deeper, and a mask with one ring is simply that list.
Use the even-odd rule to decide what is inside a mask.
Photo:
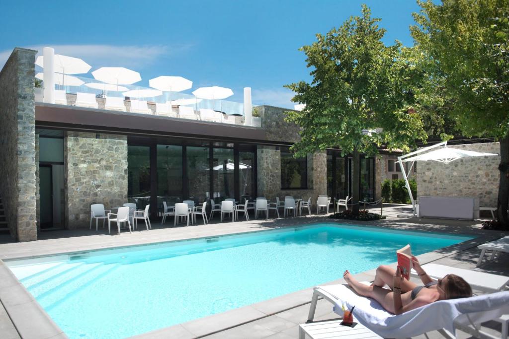
[{"label": "fourth glass door pane from left, reflecting a white umbrella", "polygon": [[214,201],[235,198],[235,161],[232,148],[214,148],[212,174],[214,177]]}]

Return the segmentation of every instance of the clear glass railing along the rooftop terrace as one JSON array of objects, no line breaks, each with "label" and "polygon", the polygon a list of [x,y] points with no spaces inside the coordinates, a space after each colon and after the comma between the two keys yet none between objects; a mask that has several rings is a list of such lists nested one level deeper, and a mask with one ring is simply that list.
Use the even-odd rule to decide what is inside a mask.
[{"label": "clear glass railing along the rooftop terrace", "polygon": [[[56,76],[56,75],[55,75]],[[196,98],[192,94],[186,94],[186,93],[180,93],[180,92],[174,92],[174,91],[162,91],[161,95],[157,96],[147,96],[147,97],[141,97],[144,92],[147,90],[156,91],[154,88],[144,87],[144,86],[138,86],[138,85],[110,85],[102,83],[101,81],[98,81],[96,79],[86,78],[86,77],[80,77],[73,75],[72,79],[74,83],[76,83],[77,80],[79,82],[83,82],[80,85],[72,85],[72,84],[55,84],[55,90],[64,90],[66,93],[66,100],[65,102],[61,100],[59,104],[65,104],[65,105],[75,105],[76,103],[76,95],[78,93],[86,93],[86,94],[94,94],[96,97],[96,102],[98,104],[99,109],[107,109],[104,106],[104,99],[106,97],[115,97],[115,98],[123,98],[126,101],[126,112],[131,112],[131,105],[130,100],[141,100],[141,101],[147,101],[148,107],[151,110],[151,113],[148,114],[156,114],[156,104],[164,104],[171,102],[172,103],[172,114],[174,113],[175,116],[173,117],[180,117],[179,110],[180,106],[186,106],[186,107],[192,107],[195,111],[195,114],[197,115],[197,120],[201,119],[200,115],[200,109],[211,109],[217,112],[223,113],[223,118],[217,120],[216,122],[224,122],[229,124],[236,124],[236,125],[244,125],[243,123],[243,115],[244,115],[244,104],[233,102],[229,100],[209,100],[209,99],[200,99]],[[62,82],[64,79],[59,79],[59,82]],[[69,80],[70,81],[70,80]],[[90,86],[87,86],[87,84],[103,84],[106,89],[97,89],[92,88]],[[44,83],[43,83],[44,86]],[[113,89],[113,90],[112,90]],[[127,91],[134,91],[134,96],[126,96],[124,93]],[[39,93],[38,93],[39,92]],[[36,91],[36,102],[43,102],[42,97],[42,91]],[[150,95],[150,94],[149,94]],[[79,106],[79,105],[78,105]],[[147,113],[144,113],[147,114]],[[184,117],[183,117],[184,118]],[[210,121],[210,120],[209,120]],[[258,124],[256,124],[258,125]]]}]

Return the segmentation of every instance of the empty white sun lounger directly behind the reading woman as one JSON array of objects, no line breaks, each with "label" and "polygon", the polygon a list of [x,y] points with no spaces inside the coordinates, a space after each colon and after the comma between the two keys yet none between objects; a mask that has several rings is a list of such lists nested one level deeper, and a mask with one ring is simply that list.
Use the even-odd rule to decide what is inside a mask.
[{"label": "empty white sun lounger directly behind the reading woman", "polygon": [[[506,289],[509,284],[509,276],[472,271],[470,269],[456,268],[434,263],[422,265],[422,269],[428,273],[430,278],[435,280],[443,278],[446,274],[459,275],[461,278],[465,279],[472,288],[484,292],[502,291]],[[411,273],[412,275],[417,276],[417,273],[414,270],[412,270]]]}]

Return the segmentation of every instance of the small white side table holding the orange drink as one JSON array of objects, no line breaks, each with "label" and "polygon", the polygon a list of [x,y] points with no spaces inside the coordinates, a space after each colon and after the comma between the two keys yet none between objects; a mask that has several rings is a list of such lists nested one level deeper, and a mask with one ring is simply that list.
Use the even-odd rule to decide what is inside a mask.
[{"label": "small white side table holding the orange drink", "polygon": [[330,320],[330,321],[317,321],[314,323],[300,324],[299,325],[299,339],[305,339],[306,334],[312,339],[334,339],[334,338],[362,338],[371,339],[377,338],[382,339],[381,336],[377,335],[370,329],[365,328],[361,324],[357,323],[355,327],[342,326],[340,325],[341,320]]}]

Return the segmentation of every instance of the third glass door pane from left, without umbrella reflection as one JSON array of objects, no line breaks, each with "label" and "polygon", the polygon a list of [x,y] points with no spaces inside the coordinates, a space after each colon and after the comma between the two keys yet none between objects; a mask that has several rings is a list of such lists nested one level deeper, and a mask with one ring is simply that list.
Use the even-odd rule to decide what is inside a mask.
[{"label": "third glass door pane from left, without umbrella reflection", "polygon": [[209,147],[186,147],[188,199],[202,204],[210,197]]}]

